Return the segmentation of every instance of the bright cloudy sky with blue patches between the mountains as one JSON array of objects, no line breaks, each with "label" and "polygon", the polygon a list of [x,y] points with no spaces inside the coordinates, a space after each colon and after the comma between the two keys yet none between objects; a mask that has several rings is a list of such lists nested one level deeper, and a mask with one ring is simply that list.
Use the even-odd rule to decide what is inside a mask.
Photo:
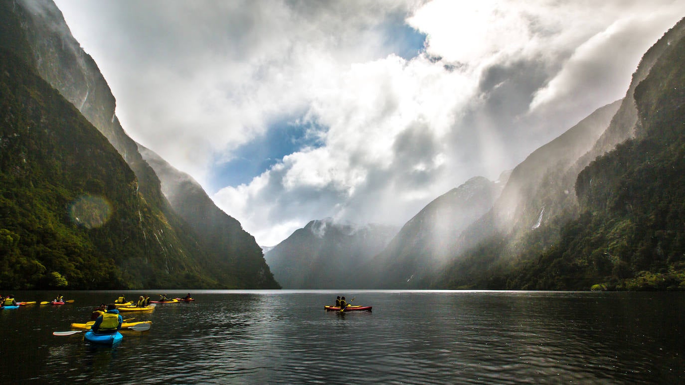
[{"label": "bright cloudy sky with blue patches between the mountains", "polygon": [[625,96],[670,0],[55,0],[127,134],[262,246],[402,226]]}]

